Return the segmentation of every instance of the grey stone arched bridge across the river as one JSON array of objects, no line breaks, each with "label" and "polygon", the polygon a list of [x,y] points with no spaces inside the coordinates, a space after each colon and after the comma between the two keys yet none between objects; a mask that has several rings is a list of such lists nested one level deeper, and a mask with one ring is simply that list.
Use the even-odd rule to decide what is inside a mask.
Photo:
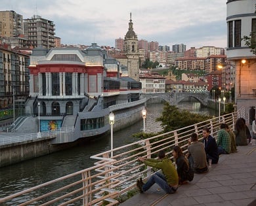
[{"label": "grey stone arched bridge across the river", "polygon": [[178,105],[180,101],[183,99],[189,99],[190,97],[194,97],[197,99],[202,105],[207,105],[207,99],[209,98],[209,92],[178,92],[178,93],[154,93],[154,94],[142,94],[141,98],[146,97],[146,99],[152,98],[160,98],[164,101],[170,103],[170,105]]}]

